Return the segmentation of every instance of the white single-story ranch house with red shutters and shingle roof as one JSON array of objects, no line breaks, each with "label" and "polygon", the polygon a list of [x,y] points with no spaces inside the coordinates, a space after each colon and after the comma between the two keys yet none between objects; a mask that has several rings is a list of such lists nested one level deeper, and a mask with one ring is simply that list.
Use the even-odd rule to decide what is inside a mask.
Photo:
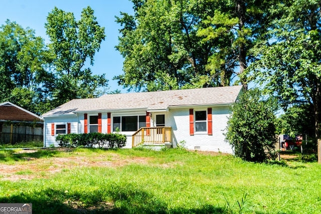
[{"label": "white single-story ranch house with red shutters and shingle roof", "polygon": [[74,99],[45,114],[44,146],[68,133],[119,132],[126,146],[177,147],[233,153],[224,131],[242,86],[106,94]]}]

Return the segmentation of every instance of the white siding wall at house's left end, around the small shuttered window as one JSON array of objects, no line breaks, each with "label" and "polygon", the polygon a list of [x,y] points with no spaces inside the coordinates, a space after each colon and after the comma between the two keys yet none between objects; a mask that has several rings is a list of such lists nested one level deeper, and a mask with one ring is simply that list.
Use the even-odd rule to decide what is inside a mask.
[{"label": "white siding wall at house's left end, around the small shuttered window", "polygon": [[[55,123],[55,135],[51,135],[51,124]],[[51,145],[59,146],[56,142],[56,124],[66,124],[70,123],[70,133],[78,133],[78,121],[76,115],[64,116],[64,117],[47,117],[44,122],[44,147],[49,147]]]}]

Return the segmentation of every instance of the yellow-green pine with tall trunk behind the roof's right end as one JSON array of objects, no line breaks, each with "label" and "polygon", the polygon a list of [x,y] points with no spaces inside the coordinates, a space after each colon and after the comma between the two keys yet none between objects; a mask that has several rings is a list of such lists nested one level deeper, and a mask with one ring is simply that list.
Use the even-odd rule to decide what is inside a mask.
[{"label": "yellow-green pine with tall trunk behind the roof's right end", "polygon": [[[261,40],[268,28],[271,14],[268,8],[276,1],[225,0],[213,8],[214,16],[203,21],[205,28],[199,30],[203,41],[215,44],[208,68],[219,74],[223,86],[230,84],[230,77],[242,74],[255,56],[249,50]],[[247,88],[246,77],[240,82]]]}]

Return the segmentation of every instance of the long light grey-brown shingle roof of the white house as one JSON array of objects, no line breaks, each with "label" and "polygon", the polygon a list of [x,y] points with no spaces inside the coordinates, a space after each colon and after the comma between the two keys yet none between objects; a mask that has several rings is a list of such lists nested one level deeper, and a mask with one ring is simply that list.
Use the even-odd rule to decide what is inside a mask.
[{"label": "long light grey-brown shingle roof of the white house", "polygon": [[106,94],[99,98],[74,99],[45,114],[43,117],[97,110],[146,109],[166,110],[176,106],[232,104],[242,86],[183,89],[125,94]]}]

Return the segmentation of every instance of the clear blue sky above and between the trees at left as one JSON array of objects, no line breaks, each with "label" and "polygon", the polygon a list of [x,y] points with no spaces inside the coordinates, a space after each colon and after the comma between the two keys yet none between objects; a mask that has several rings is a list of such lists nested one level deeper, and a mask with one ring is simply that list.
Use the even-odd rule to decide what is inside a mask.
[{"label": "clear blue sky above and between the trees at left", "polygon": [[0,25],[6,20],[16,21],[23,28],[35,30],[36,36],[40,36],[49,43],[46,35],[45,23],[48,14],[57,7],[66,12],[72,12],[76,20],[80,19],[83,8],[90,6],[100,26],[105,27],[106,38],[101,43],[99,52],[95,55],[94,66],[90,66],[93,74],[106,74],[109,80],[109,91],[116,89],[125,93],[127,90],[118,86],[112,77],[122,73],[123,58],[115,46],[118,44],[118,30],[121,28],[115,22],[115,16],[120,12],[133,14],[133,4],[129,0],[2,0],[0,4]]}]

